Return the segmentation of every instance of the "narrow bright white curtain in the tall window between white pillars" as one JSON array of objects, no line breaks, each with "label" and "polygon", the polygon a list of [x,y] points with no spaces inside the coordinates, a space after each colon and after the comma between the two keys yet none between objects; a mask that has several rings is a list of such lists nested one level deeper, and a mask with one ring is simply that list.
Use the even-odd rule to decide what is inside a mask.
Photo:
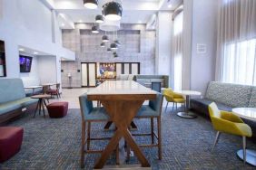
[{"label": "narrow bright white curtain in the tall window between white pillars", "polygon": [[173,72],[174,72],[174,90],[182,90],[182,30],[183,30],[183,12],[174,18],[173,22]]}]

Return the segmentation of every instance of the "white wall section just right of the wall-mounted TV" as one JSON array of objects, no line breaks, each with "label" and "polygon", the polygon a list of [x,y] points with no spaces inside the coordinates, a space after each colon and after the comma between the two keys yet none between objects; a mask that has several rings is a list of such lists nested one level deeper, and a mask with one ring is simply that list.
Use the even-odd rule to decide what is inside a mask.
[{"label": "white wall section just right of the wall-mounted TV", "polygon": [[56,57],[37,56],[38,74],[41,84],[57,82]]}]

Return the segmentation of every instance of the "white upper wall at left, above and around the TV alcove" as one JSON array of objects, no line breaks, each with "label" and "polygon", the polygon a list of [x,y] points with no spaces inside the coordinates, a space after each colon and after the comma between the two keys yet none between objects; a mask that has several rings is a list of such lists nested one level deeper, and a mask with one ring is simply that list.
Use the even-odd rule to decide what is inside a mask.
[{"label": "white upper wall at left, above and around the TV alcove", "polygon": [[[25,46],[38,52],[74,60],[74,52],[64,49],[61,30],[54,21],[56,41],[52,41],[52,20],[56,14],[39,0],[1,0],[0,39],[5,41],[6,70],[8,78],[17,78],[19,72],[18,46]],[[0,13],[1,15],[1,13]],[[60,66],[58,66],[60,67]],[[57,80],[61,79],[60,69],[56,69]]]}]

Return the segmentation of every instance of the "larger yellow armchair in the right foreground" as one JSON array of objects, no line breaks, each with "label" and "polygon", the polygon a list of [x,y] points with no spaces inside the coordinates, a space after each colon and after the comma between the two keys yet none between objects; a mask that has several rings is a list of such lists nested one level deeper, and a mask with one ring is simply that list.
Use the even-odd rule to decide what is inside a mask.
[{"label": "larger yellow armchair in the right foreground", "polygon": [[243,146],[243,161],[246,162],[246,137],[251,137],[251,127],[243,123],[241,118],[232,114],[228,111],[219,110],[217,105],[212,102],[209,105],[210,118],[212,120],[212,126],[217,131],[214,144],[212,146],[212,151],[216,146],[221,132],[228,133],[231,135],[242,137]]}]

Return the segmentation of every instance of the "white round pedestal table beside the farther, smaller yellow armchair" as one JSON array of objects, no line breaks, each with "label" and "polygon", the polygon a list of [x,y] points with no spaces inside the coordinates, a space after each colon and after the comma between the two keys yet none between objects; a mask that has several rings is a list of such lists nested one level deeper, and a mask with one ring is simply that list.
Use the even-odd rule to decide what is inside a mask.
[{"label": "white round pedestal table beside the farther, smaller yellow armchair", "polygon": [[180,90],[180,91],[174,91],[174,92],[177,94],[186,96],[185,112],[179,112],[179,113],[177,113],[177,115],[182,118],[197,118],[197,116],[195,114],[189,112],[190,97],[191,96],[201,96],[201,92],[193,91],[193,90]]}]

